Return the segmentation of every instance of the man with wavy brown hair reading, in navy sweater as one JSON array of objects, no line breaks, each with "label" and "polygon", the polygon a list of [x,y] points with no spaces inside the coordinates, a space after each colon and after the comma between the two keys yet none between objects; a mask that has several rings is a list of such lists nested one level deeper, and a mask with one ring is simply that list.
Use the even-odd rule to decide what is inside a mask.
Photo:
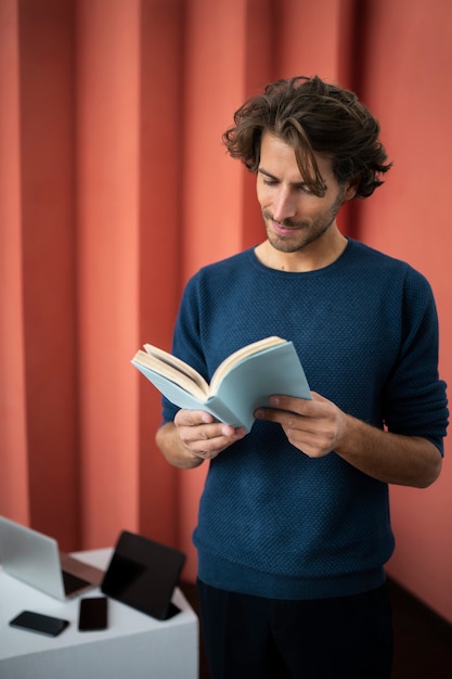
[{"label": "man with wavy brown hair reading, in navy sweater", "polygon": [[280,335],[313,400],[272,395],[245,436],[164,399],[167,460],[210,461],[194,542],[211,677],[389,678],[388,484],[430,485],[448,424],[434,298],[409,265],[337,227],[390,167],[353,93],[280,80],[234,123],[223,141],[257,175],[267,240],[193,277],[173,353],[208,379]]}]

